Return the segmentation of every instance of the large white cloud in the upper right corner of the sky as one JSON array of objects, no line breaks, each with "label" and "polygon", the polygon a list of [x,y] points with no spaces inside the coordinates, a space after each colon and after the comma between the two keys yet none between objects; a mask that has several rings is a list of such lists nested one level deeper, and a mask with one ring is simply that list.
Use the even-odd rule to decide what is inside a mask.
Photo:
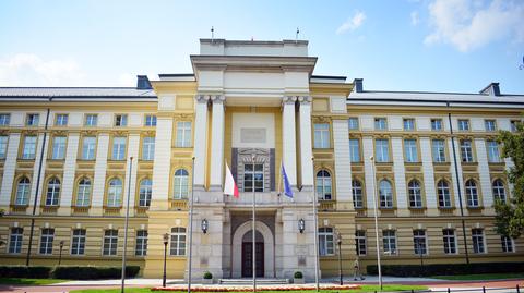
[{"label": "large white cloud in the upper right corner of the sky", "polygon": [[425,44],[451,44],[466,52],[510,37],[524,41],[524,2],[492,0],[434,0],[429,4],[433,32]]}]

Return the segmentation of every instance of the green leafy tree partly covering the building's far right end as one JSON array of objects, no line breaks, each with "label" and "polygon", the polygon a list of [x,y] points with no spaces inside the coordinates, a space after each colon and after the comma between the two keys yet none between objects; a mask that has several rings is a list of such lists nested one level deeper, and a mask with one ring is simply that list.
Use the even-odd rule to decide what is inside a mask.
[{"label": "green leafy tree partly covering the building's far right end", "polygon": [[524,123],[516,123],[516,131],[501,131],[497,141],[502,145],[502,157],[510,158],[514,166],[508,170],[508,180],[513,184],[513,197],[496,200],[496,229],[501,235],[517,239],[524,233]]}]

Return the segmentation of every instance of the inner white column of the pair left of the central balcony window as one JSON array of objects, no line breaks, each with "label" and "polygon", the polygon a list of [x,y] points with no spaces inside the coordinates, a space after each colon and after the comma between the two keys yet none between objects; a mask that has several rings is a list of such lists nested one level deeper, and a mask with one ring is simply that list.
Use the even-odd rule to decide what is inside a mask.
[{"label": "inner white column of the pair left of the central balcony window", "polygon": [[[224,170],[224,96],[212,96],[212,132],[211,132],[211,178],[210,190],[222,191]],[[195,144],[199,144],[195,141]]]}]

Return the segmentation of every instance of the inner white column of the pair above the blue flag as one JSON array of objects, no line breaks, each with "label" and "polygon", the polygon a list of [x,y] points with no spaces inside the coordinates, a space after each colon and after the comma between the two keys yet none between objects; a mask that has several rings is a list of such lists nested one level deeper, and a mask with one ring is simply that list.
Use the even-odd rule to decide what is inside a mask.
[{"label": "inner white column of the pair above the blue flag", "polygon": [[[289,184],[297,186],[297,132],[295,130],[295,102],[297,97],[284,97],[282,109],[282,160]],[[311,160],[311,158],[309,159]],[[279,169],[279,162],[276,162]],[[278,182],[278,181],[277,181]]]}]

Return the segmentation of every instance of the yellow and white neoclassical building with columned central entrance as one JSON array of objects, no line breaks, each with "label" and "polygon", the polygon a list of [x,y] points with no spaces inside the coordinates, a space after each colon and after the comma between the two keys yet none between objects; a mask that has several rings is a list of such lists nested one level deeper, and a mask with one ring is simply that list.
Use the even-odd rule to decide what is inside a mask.
[{"label": "yellow and white neoclassical building with columned central entrance", "polygon": [[200,45],[193,73],[135,88],[0,88],[2,264],[31,242],[31,264],[118,266],[129,196],[129,263],[160,277],[167,233],[167,274],[183,278],[193,194],[193,273],[249,277],[253,186],[260,277],[314,276],[314,196],[323,277],[338,254],[346,273],[374,264],[374,195],[383,264],[524,260],[492,208],[511,197],[497,132],[523,95],[365,90],[314,75],[303,40]]}]

